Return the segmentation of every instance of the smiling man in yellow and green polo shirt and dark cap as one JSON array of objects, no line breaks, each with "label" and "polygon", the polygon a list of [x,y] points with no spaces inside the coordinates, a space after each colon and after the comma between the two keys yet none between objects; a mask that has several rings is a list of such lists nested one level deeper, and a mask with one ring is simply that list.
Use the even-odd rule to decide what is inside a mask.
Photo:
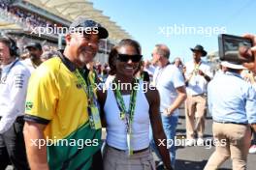
[{"label": "smiling man in yellow and green polo shirt and dark cap", "polygon": [[108,35],[99,23],[77,18],[63,54],[32,74],[24,127],[31,169],[102,169],[95,82],[85,65]]}]

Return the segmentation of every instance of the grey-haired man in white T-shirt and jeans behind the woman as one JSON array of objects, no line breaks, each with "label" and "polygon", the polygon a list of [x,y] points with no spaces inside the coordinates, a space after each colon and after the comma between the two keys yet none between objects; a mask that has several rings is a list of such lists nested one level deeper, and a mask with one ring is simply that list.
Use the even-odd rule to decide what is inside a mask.
[{"label": "grey-haired man in white T-shirt and jeans behind the woman", "polygon": [[[169,62],[170,49],[165,44],[156,44],[152,51],[153,61],[158,65],[154,72],[153,85],[160,95],[160,115],[165,134],[173,145],[168,145],[172,166],[176,163],[176,126],[178,122],[178,107],[186,99],[185,82],[182,73]],[[155,150],[155,144],[151,140],[151,147]],[[156,151],[158,155],[158,152]],[[162,162],[160,162],[159,166]]]}]

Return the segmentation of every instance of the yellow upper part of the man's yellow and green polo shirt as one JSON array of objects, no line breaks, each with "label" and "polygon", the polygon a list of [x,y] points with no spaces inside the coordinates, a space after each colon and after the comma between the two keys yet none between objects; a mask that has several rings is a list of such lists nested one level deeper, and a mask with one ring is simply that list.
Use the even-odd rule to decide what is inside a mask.
[{"label": "yellow upper part of the man's yellow and green polo shirt", "polygon": [[53,57],[32,73],[26,115],[49,120],[45,135],[63,139],[88,121],[87,98],[75,73]]}]

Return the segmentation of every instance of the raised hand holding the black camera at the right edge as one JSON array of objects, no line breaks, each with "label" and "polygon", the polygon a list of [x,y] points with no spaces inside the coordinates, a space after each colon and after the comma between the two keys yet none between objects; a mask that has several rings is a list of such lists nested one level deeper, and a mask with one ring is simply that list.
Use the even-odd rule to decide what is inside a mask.
[{"label": "raised hand holding the black camera at the right edge", "polygon": [[[251,34],[246,34],[243,37],[251,39],[253,42],[253,47],[251,47],[251,51],[246,51],[247,53],[252,53],[254,56],[254,62],[250,62],[250,63],[244,63],[243,66],[245,68],[247,68],[250,71],[256,72],[256,35],[251,35]],[[248,54],[240,54],[241,56],[249,56]]]}]

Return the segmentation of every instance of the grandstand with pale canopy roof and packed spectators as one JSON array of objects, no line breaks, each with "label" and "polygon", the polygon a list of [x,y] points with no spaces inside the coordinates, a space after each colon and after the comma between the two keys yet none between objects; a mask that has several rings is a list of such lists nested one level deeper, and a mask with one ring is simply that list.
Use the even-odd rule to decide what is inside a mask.
[{"label": "grandstand with pale canopy roof and packed spectators", "polygon": [[95,60],[106,63],[112,45],[131,36],[111,20],[109,16],[93,7],[88,0],[1,0],[0,31],[13,37],[20,52],[24,52],[27,42],[41,42],[44,49],[62,48],[63,35],[38,34],[38,28],[45,30],[69,27],[79,15],[84,15],[104,25],[110,33],[108,40],[100,42],[100,50]]}]

